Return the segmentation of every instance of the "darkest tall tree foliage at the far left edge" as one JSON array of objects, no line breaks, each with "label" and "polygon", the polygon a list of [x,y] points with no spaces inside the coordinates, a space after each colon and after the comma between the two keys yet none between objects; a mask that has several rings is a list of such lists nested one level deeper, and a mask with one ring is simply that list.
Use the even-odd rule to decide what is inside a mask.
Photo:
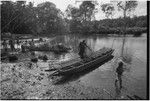
[{"label": "darkest tall tree foliage at the far left edge", "polygon": [[[27,20],[31,19],[33,7],[28,8],[25,1],[2,1],[1,7],[2,33],[31,33]],[[30,23],[33,22],[30,20]]]}]

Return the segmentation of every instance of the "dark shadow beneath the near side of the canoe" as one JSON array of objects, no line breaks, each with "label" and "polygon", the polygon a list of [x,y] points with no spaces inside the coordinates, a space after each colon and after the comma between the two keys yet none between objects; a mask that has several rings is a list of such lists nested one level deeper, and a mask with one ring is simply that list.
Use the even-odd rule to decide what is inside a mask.
[{"label": "dark shadow beneath the near side of the canoe", "polygon": [[[98,67],[100,67],[101,65],[105,64],[106,62],[110,61],[113,57],[114,56],[111,56],[109,59],[101,62],[100,64],[98,64],[96,66],[93,66],[93,68],[86,69],[86,70],[84,70],[82,72],[79,72],[79,73],[76,73],[76,74],[73,74],[73,75],[61,76],[61,77],[59,77],[59,79],[54,79],[53,80],[53,84],[60,85],[60,84],[68,83],[70,81],[75,81],[75,80],[79,79],[80,77],[85,76],[86,74],[88,74],[88,73],[92,72],[93,70],[97,69]],[[54,77],[54,78],[57,78],[57,77]]]}]

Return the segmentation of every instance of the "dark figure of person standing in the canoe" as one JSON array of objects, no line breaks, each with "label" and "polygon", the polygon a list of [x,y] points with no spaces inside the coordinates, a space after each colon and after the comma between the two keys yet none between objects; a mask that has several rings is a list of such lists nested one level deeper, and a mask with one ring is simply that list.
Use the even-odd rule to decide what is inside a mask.
[{"label": "dark figure of person standing in the canoe", "polygon": [[[85,40],[83,40],[82,42],[79,43],[79,56],[81,59],[84,59],[86,57],[86,48],[90,49]],[[91,49],[90,49],[91,50]]]}]

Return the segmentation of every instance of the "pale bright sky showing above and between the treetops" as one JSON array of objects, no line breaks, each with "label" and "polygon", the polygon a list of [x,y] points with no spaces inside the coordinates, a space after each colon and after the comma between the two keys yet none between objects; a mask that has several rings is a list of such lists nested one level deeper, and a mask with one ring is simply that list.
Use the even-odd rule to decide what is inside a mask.
[{"label": "pale bright sky showing above and between the treetops", "polygon": [[[17,0],[11,0],[11,1],[17,1]],[[62,12],[65,12],[67,6],[69,4],[74,5],[78,7],[81,4],[81,1],[83,0],[26,0],[27,2],[33,2],[34,5],[38,5],[40,3],[50,1],[56,5],[57,8],[59,8]],[[97,0],[99,4],[110,2],[109,0]],[[147,3],[146,0],[138,0],[138,6],[136,7],[135,11],[133,12],[136,16],[142,16],[147,15]],[[121,17],[123,14],[122,12],[116,11],[113,18]],[[101,11],[99,8],[98,13],[95,15],[96,20],[105,19],[105,14]]]}]

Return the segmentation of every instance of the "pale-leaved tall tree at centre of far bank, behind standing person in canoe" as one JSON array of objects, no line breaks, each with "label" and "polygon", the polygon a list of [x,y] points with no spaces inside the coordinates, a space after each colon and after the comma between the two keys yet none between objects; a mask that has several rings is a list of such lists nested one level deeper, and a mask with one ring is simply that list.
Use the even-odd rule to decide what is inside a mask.
[{"label": "pale-leaved tall tree at centre of far bank, behind standing person in canoe", "polygon": [[[94,1],[83,1],[79,8],[68,5],[66,17],[70,19],[69,25],[71,32],[84,33],[84,31],[90,31],[92,29],[91,22],[95,19],[95,13],[97,12],[96,5],[97,2]],[[87,28],[89,30],[85,30]]]}]

